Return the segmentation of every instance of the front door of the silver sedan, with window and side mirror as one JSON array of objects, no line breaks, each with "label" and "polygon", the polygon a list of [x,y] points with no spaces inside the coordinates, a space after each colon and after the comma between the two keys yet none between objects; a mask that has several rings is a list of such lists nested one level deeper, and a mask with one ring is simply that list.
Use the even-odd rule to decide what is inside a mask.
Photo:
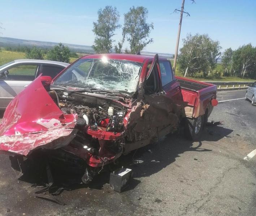
[{"label": "front door of the silver sedan, with window and side mirror", "polygon": [[35,78],[38,64],[16,64],[7,68],[7,76],[0,78],[0,109],[5,109],[10,101]]}]

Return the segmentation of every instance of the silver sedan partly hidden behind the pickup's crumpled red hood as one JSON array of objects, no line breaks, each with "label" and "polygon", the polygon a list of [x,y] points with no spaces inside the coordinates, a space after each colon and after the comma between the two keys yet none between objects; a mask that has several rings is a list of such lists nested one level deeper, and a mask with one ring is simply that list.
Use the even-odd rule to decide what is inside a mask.
[{"label": "silver sedan partly hidden behind the pickup's crumpled red hood", "polygon": [[48,60],[20,59],[0,66],[0,110],[41,73],[55,77],[68,63]]}]

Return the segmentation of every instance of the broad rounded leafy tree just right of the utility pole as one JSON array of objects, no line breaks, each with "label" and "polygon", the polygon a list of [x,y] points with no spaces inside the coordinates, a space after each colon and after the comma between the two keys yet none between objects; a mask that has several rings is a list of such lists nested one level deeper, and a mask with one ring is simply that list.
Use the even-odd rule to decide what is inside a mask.
[{"label": "broad rounded leafy tree just right of the utility pole", "polygon": [[192,36],[188,34],[182,39],[183,47],[178,56],[179,70],[186,75],[193,76],[203,72],[204,77],[216,68],[221,55],[219,41],[213,41],[207,34]]}]

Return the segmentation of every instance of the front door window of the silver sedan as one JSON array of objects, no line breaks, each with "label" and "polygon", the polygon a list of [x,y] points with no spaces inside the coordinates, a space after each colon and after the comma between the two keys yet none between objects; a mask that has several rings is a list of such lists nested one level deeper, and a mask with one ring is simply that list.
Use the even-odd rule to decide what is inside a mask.
[{"label": "front door window of the silver sedan", "polygon": [[35,78],[35,73],[38,65],[22,64],[13,66],[8,69],[7,78],[4,80],[17,80],[17,81],[32,81]]}]

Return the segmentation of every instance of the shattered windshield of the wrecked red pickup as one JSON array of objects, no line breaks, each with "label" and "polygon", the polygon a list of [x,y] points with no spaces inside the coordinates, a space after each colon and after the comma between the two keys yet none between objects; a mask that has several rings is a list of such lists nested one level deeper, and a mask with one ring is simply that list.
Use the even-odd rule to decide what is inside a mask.
[{"label": "shattered windshield of the wrecked red pickup", "polygon": [[127,60],[79,59],[54,81],[54,85],[84,89],[136,91],[142,63]]}]

